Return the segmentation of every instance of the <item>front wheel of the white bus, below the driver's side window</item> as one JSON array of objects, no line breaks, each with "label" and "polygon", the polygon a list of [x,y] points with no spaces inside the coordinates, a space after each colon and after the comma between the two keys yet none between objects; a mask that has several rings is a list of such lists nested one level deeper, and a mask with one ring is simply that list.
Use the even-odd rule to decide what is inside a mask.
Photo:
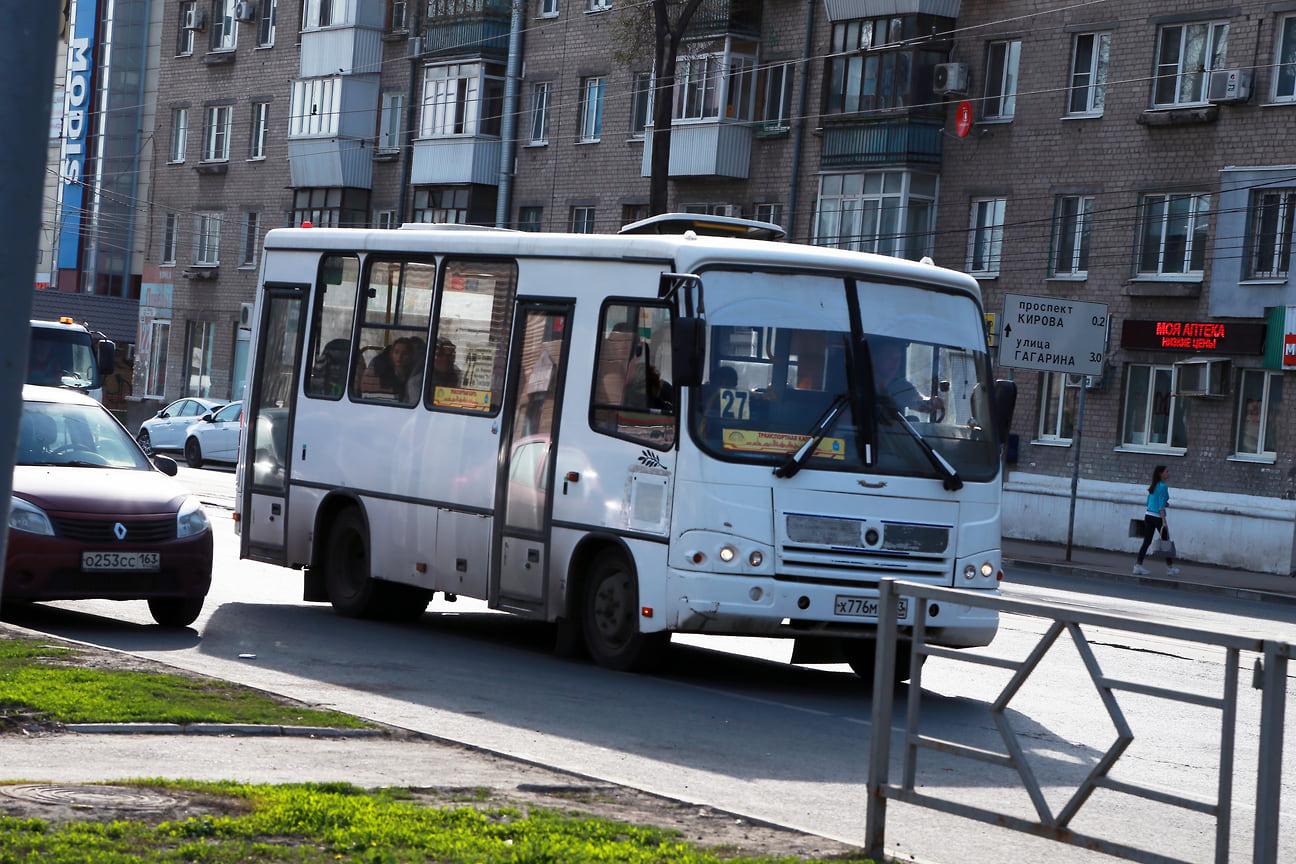
[{"label": "front wheel of the white bus, below the driver's side window", "polygon": [[670,633],[639,632],[639,588],[625,556],[595,558],[584,592],[584,645],[594,662],[617,671],[651,671],[666,657]]}]

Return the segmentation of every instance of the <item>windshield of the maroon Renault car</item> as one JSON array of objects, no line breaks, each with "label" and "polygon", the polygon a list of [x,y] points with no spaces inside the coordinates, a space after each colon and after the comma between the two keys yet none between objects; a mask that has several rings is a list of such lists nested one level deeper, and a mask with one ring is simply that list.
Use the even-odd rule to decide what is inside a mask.
[{"label": "windshield of the maroon Renault car", "polygon": [[25,402],[18,465],[71,465],[148,470],[139,446],[100,405]]}]

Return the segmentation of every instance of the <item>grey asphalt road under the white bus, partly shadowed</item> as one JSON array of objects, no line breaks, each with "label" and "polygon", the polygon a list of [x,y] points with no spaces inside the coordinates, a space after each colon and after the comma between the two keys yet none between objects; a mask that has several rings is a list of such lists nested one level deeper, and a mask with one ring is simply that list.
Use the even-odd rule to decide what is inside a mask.
[{"label": "grey asphalt road under the white bus, partly shadowed", "polygon": [[[181,468],[181,481],[203,500],[232,500],[228,472]],[[546,627],[465,600],[438,598],[413,624],[343,619],[327,606],[299,602],[298,574],[238,561],[229,513],[216,505],[210,512],[216,579],[189,631],[152,626],[144,604],[109,601],[52,604],[23,613],[17,623],[537,764],[863,843],[871,694],[846,667],[792,667],[784,662],[788,646],[774,640],[691,637],[677,640],[664,675],[616,674],[559,659],[548,650],[552,635]],[[1147,589],[1135,597],[1113,587],[1102,596],[1065,587],[1008,585],[1006,592],[1181,624],[1247,627],[1296,641],[1296,624],[1266,618],[1266,610],[1244,601],[1165,597],[1196,604],[1170,606],[1148,604]],[[1046,626],[1034,618],[1004,618],[986,652],[1024,657]],[[1120,632],[1090,633],[1090,640],[1115,677],[1220,692],[1217,650]],[[1238,861],[1249,860],[1258,759],[1251,662],[1242,661],[1239,694],[1231,856]],[[1002,751],[982,702],[1006,681],[999,670],[933,659],[923,675],[924,733]],[[897,758],[905,689],[893,723]],[[1116,776],[1209,801],[1217,782],[1218,714],[1150,698],[1121,703],[1137,738]],[[1296,706],[1288,715],[1296,716]],[[1007,716],[1055,812],[1115,736],[1065,640],[1012,698]],[[1284,762],[1296,766],[1292,737]],[[899,777],[898,762],[892,777]],[[1032,815],[1020,782],[1001,768],[924,753],[918,782],[934,795]],[[1284,791],[1291,801],[1296,784],[1284,784]],[[1296,860],[1293,821],[1286,815],[1283,837],[1292,839],[1284,839],[1280,860]],[[889,847],[923,860],[1111,860],[912,806],[892,804],[888,824]],[[1185,860],[1212,856],[1208,817],[1117,793],[1096,793],[1073,828]]]}]

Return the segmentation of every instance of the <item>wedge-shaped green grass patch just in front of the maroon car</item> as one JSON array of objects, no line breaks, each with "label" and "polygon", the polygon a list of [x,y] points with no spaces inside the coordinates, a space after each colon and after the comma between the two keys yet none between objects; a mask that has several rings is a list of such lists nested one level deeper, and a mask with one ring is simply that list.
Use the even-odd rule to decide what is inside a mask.
[{"label": "wedge-shaped green grass patch just in front of the maroon car", "polygon": [[34,712],[60,723],[372,727],[337,711],[280,705],[214,679],[83,668],[75,666],[78,654],[32,639],[0,639],[0,712]]}]

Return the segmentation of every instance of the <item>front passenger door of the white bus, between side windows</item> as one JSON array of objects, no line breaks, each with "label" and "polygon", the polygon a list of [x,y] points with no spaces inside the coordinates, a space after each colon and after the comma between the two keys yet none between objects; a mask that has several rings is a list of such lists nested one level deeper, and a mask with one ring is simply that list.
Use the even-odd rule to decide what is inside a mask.
[{"label": "front passenger door of the white bus, between side windows", "polygon": [[546,614],[553,460],[566,376],[569,304],[520,302],[504,402],[490,605]]}]

